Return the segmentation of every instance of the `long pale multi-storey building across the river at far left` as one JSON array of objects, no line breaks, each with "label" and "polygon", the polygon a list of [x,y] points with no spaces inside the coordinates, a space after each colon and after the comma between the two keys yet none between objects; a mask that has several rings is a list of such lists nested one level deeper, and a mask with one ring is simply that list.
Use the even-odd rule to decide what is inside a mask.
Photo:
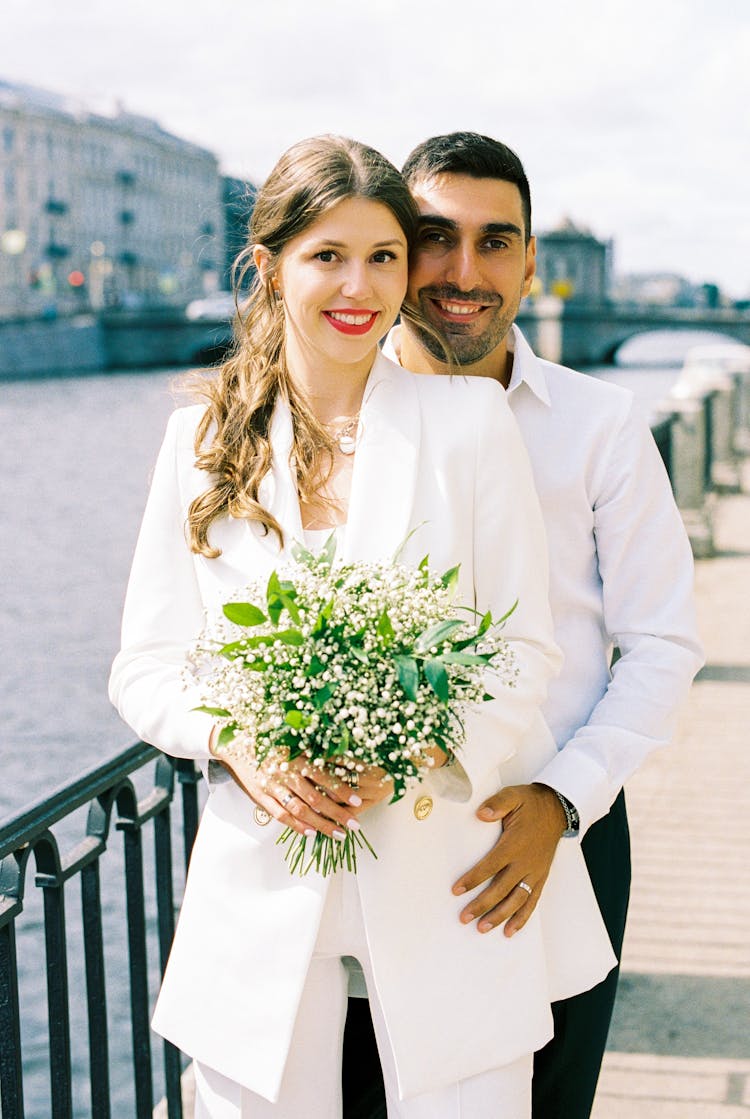
[{"label": "long pale multi-storey building across the river at far left", "polygon": [[212,152],[0,82],[0,316],[185,304],[223,269]]}]

